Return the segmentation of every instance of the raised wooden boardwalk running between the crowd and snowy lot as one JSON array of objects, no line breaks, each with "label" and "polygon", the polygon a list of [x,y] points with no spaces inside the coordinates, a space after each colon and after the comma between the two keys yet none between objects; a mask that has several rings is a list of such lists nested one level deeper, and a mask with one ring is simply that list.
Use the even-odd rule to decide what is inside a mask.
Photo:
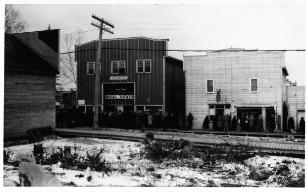
[{"label": "raised wooden boardwalk running between the crowd and snowy lot", "polygon": [[[137,140],[143,141],[145,138],[144,132],[129,132],[118,130],[91,130],[91,129],[72,129],[72,128],[56,128],[57,135],[66,136],[90,136],[106,139],[123,139],[123,140]],[[154,134],[155,139],[160,141],[177,141],[180,138],[194,142],[197,146],[214,146],[214,145],[249,145],[257,150],[263,152],[281,152],[292,154],[305,154],[305,141],[292,142],[292,141],[278,141],[278,140],[258,140],[245,137],[226,137],[219,135],[197,135],[197,134]]]}]

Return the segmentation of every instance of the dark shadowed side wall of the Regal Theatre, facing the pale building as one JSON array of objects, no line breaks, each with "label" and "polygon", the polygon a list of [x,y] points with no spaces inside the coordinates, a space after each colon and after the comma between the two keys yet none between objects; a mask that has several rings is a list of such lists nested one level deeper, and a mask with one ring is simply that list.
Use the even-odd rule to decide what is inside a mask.
[{"label": "dark shadowed side wall of the Regal Theatre, facing the pale building", "polygon": [[182,61],[165,58],[165,112],[184,114],[185,77]]}]

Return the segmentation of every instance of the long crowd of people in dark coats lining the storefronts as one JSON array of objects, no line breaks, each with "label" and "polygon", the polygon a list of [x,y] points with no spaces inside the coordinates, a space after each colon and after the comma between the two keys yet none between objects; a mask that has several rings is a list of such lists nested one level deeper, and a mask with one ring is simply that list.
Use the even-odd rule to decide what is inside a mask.
[{"label": "long crowd of people in dark coats lining the storefronts", "polygon": [[[91,111],[91,110],[89,110]],[[80,126],[93,127],[94,116],[93,112],[82,114],[80,116]],[[266,128],[269,132],[274,132],[276,128],[275,116],[270,115],[267,120],[269,127]],[[163,128],[165,129],[179,129],[189,130],[192,128],[193,115],[191,113],[174,115],[174,113],[160,113],[156,112],[152,115],[150,112],[145,113],[144,111],[133,111],[122,112],[104,112],[99,113],[99,127],[101,128],[128,128],[128,129],[143,129],[145,128]],[[205,116],[202,129],[209,129],[210,119],[209,116]],[[216,114],[213,118],[212,129],[218,131],[237,131],[238,124],[240,124],[241,131],[248,132],[263,132],[263,118],[262,115],[254,117],[253,114],[243,114],[238,120],[236,116],[226,114],[224,117],[221,114]],[[305,133],[305,120],[301,118],[300,128],[297,128],[297,132]],[[290,117],[288,120],[288,132],[291,133],[295,128],[294,119]]]}]

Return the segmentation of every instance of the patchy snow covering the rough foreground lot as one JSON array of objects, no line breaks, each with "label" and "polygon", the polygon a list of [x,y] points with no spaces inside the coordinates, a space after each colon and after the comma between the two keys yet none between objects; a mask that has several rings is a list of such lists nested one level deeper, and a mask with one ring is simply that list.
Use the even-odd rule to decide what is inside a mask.
[{"label": "patchy snow covering the rough foreground lot", "polygon": [[[134,141],[58,137],[58,139],[44,140],[41,143],[44,148],[47,148],[48,152],[51,152],[53,148],[56,150],[58,147],[64,148],[64,146],[70,146],[72,149],[71,154],[77,153],[79,157],[87,157],[87,151],[90,154],[97,154],[101,148],[104,148],[101,159],[105,159],[105,162],[113,170],[109,172],[109,176],[103,172],[63,169],[60,167],[60,163],[51,167],[49,165],[43,165],[46,169],[51,168],[50,172],[63,184],[70,184],[72,182],[74,186],[205,187],[209,184],[209,181],[213,181],[217,186],[220,186],[222,183],[231,183],[279,187],[276,182],[266,184],[264,182],[249,180],[248,176],[250,171],[287,163],[294,173],[305,172],[305,159],[283,156],[256,156],[245,160],[244,163],[219,161],[216,163],[216,166],[221,167],[220,170],[205,170],[198,166],[202,164],[202,160],[194,157],[190,159],[179,159],[177,161],[168,160],[162,163],[153,163],[151,160],[145,158],[145,144]],[[21,148],[27,148],[33,151],[33,143],[5,147],[4,150],[9,152],[8,161],[11,161],[16,151]],[[188,166],[182,166],[183,164]],[[3,177],[18,182],[18,169],[11,165],[3,166]],[[84,175],[84,177],[76,177],[80,174]],[[92,177],[90,181],[87,179],[89,176]]]}]

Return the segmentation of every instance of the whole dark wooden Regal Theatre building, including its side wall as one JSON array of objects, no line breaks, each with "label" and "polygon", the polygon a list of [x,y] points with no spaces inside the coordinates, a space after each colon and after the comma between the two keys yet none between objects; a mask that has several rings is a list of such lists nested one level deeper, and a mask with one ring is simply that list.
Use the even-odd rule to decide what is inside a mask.
[{"label": "whole dark wooden Regal Theatre building, including its side wall", "polygon": [[[167,43],[146,37],[102,40],[102,111],[184,113],[182,61],[167,55]],[[97,48],[98,40],[75,46],[78,108],[85,112],[94,105]]]}]

